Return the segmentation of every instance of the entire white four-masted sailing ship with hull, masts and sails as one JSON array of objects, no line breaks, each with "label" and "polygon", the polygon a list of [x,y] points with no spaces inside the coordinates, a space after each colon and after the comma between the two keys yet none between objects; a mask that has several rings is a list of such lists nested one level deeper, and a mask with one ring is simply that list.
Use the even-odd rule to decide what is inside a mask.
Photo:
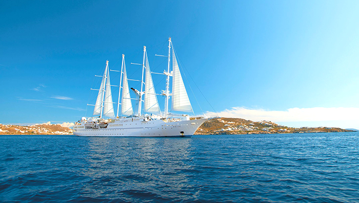
[{"label": "entire white four-masted sailing ship with hull, masts and sails", "polygon": [[[73,133],[76,136],[96,137],[192,137],[198,127],[208,119],[205,117],[191,119],[187,114],[172,115],[169,113],[170,99],[173,111],[193,112],[193,109],[178,68],[171,38],[168,41],[168,56],[165,56],[168,57],[167,71],[155,73],[166,77],[166,89],[161,94],[155,92],[146,47],[144,47],[143,64],[140,64],[142,65],[142,79],[141,81],[138,80],[141,82],[141,88],[139,90],[131,88],[137,96],[137,98],[131,98],[128,81],[132,79],[127,78],[125,55],[122,55],[117,115],[115,117],[111,94],[111,86],[115,85],[110,84],[110,71],[112,70],[109,70],[109,61],[106,61],[103,76],[98,76],[102,77],[101,85],[99,89],[92,89],[98,91],[96,103],[94,105],[88,104],[94,106],[93,116],[90,118],[82,117],[81,121],[75,123]],[[170,71],[171,48],[172,71]],[[172,92],[170,92],[170,77],[172,77]],[[145,86],[144,89],[143,86]],[[163,114],[158,105],[157,95],[165,96]],[[136,113],[133,110],[131,100],[138,102]],[[120,112],[119,109],[121,109]]]}]

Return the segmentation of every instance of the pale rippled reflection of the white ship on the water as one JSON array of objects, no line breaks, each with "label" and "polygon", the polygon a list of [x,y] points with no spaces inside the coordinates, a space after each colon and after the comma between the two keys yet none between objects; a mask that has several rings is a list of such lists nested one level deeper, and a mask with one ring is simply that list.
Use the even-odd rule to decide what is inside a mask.
[{"label": "pale rippled reflection of the white ship on the water", "polygon": [[189,182],[180,171],[193,165],[191,142],[190,138],[88,138],[84,159],[89,167],[83,174],[92,180],[82,192],[106,196],[144,188],[180,191]]}]

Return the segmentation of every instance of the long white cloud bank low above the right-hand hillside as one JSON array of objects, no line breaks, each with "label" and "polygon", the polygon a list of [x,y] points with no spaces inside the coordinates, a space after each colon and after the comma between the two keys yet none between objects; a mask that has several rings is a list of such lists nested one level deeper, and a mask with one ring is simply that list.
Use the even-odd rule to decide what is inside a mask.
[{"label": "long white cloud bank low above the right-hand hillside", "polygon": [[[251,121],[273,121],[282,123],[292,123],[300,125],[302,123],[338,123],[337,127],[344,126],[345,122],[351,127],[359,127],[359,108],[355,107],[313,107],[313,108],[289,108],[287,110],[265,110],[249,109],[246,107],[232,107],[221,112],[206,112],[206,115],[229,118],[242,118]],[[355,125],[355,126],[352,126]],[[334,127],[334,126],[333,126]],[[347,126],[345,126],[348,128]]]}]

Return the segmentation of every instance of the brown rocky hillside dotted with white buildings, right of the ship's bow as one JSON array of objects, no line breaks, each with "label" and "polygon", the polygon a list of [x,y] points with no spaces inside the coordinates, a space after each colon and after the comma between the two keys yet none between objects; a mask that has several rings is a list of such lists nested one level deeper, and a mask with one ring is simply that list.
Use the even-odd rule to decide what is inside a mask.
[{"label": "brown rocky hillside dotted with white buildings, right of the ship's bow", "polygon": [[292,128],[270,121],[253,122],[237,118],[215,118],[206,121],[194,134],[272,134],[304,132],[350,132],[341,128],[302,127]]}]

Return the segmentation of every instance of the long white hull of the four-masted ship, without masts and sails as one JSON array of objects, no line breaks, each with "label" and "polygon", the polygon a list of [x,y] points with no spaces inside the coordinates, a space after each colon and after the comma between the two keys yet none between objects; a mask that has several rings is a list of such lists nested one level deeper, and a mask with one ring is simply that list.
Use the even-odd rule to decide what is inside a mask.
[{"label": "long white hull of the four-masted ship, without masts and sails", "polygon": [[144,117],[114,119],[106,128],[88,128],[85,122],[74,126],[76,136],[86,137],[192,137],[207,119],[165,122]]}]

